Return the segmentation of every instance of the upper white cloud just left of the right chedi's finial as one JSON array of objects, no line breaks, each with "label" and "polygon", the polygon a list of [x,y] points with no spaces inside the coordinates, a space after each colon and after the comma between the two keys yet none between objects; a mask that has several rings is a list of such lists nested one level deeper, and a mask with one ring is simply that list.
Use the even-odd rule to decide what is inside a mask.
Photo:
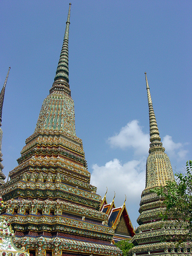
[{"label": "upper white cloud just left of the right chedi's finial", "polygon": [[149,134],[143,133],[138,120],[129,122],[121,131],[110,137],[108,142],[112,147],[132,147],[135,155],[147,155],[149,149]]}]

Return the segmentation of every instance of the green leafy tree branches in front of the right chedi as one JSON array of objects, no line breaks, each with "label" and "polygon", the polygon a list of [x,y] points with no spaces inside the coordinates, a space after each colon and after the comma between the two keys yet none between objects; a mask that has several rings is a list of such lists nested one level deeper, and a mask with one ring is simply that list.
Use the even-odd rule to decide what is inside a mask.
[{"label": "green leafy tree branches in front of the right chedi", "polygon": [[167,181],[166,186],[152,189],[162,196],[166,210],[160,217],[163,220],[184,221],[192,235],[192,161],[187,161],[184,173],[176,173],[175,181]]}]

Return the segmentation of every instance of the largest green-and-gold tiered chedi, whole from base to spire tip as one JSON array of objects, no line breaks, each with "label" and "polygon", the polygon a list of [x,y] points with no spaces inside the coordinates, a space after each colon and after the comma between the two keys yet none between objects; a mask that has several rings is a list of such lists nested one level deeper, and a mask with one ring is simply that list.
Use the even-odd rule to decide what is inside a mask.
[{"label": "largest green-and-gold tiered chedi, whole from base to spire tip", "polygon": [[30,256],[120,256],[111,245],[114,230],[99,211],[101,196],[90,184],[82,140],[76,136],[68,79],[70,8],[63,47],[50,94],[33,135],[9,173],[1,196],[15,231],[14,243]]}]

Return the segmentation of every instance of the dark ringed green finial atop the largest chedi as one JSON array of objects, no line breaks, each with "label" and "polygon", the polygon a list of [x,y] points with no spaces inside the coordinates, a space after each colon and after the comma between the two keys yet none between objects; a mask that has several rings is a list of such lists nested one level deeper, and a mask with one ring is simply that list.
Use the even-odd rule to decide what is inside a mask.
[{"label": "dark ringed green finial atop the largest chedi", "polygon": [[[69,25],[70,25],[71,3],[69,3],[69,12],[67,16],[65,35],[63,39],[63,47],[61,49],[60,59],[56,70],[54,81],[65,79],[69,83],[69,67],[68,67],[68,41],[69,41]],[[69,87],[69,84],[67,84]]]}]

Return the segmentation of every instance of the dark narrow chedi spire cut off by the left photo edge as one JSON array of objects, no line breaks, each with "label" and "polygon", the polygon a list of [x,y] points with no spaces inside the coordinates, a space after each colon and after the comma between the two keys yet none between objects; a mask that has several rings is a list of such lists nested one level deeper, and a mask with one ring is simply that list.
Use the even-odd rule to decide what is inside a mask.
[{"label": "dark narrow chedi spire cut off by the left photo edge", "polygon": [[9,76],[10,69],[11,69],[11,67],[9,67],[9,70],[8,70],[7,76],[5,78],[3,88],[2,88],[1,93],[0,93],[0,184],[1,185],[5,183],[4,180],[6,178],[5,174],[2,172],[4,166],[1,163],[3,161],[3,159],[2,159],[3,154],[1,153],[2,139],[3,139],[3,131],[1,129],[1,122],[2,122],[3,102],[4,102],[4,96],[5,96],[5,87],[6,87],[6,84],[7,84],[7,79],[8,79],[8,76]]}]

